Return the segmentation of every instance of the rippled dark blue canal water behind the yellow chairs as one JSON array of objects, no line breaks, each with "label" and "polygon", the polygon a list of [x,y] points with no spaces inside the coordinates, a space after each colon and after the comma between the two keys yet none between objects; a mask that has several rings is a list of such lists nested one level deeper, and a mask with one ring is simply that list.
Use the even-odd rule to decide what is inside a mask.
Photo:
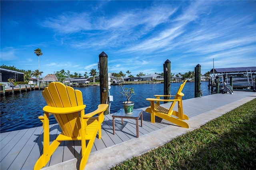
[{"label": "rippled dark blue canal water behind the yellow chairs", "polygon": [[[171,92],[175,95],[181,83],[172,83]],[[201,89],[203,96],[210,95],[208,90],[208,82],[202,82]],[[134,87],[136,93],[132,97],[134,108],[142,108],[150,105],[146,98],[153,98],[155,94],[164,93],[164,83],[160,84],[140,84],[140,85],[125,85],[124,87]],[[85,113],[90,113],[97,109],[100,104],[100,86],[91,87],[74,87],[83,93],[84,104],[86,104]],[[120,92],[120,86],[111,86],[110,94],[114,96],[114,101],[111,102],[110,113],[115,113],[122,108],[122,102],[126,101]],[[186,83],[183,91],[183,99],[194,97],[194,82]],[[15,95],[1,97],[1,127],[0,131],[8,132],[25,128],[42,126],[38,116],[43,115],[42,108],[46,105],[42,97],[42,91],[28,91]],[[50,117],[50,124],[56,123],[53,116]]]}]

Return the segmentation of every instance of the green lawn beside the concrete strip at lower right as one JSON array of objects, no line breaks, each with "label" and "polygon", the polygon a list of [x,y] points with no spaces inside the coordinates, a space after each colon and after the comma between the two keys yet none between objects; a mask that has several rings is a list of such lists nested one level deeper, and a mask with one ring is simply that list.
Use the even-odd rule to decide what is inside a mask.
[{"label": "green lawn beside the concrete strip at lower right", "polygon": [[256,99],[111,169],[255,168]]}]

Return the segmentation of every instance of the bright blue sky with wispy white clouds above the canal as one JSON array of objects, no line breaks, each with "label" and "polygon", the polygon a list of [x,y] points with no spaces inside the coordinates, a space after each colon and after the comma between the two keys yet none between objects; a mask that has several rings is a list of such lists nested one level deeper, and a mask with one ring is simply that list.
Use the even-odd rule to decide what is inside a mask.
[{"label": "bright blue sky with wispy white clouds above the canal", "polygon": [[0,64],[136,76],[256,66],[256,1],[0,1]]}]

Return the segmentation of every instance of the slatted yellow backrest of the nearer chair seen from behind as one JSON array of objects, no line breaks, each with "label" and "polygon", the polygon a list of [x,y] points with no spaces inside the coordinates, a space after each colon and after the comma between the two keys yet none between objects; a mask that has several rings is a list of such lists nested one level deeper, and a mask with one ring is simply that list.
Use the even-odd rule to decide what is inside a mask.
[{"label": "slatted yellow backrest of the nearer chair seen from behind", "polygon": [[[83,105],[82,93],[62,83],[50,83],[42,92],[48,106],[65,108]],[[54,114],[54,117],[65,136],[81,136],[81,120],[78,112]]]}]

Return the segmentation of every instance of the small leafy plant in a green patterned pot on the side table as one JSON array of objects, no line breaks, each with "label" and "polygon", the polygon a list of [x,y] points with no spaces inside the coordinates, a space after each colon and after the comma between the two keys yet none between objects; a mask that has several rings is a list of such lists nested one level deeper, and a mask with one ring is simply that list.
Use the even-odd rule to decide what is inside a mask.
[{"label": "small leafy plant in a green patterned pot on the side table", "polygon": [[130,99],[133,95],[135,95],[134,88],[124,88],[122,85],[121,87],[123,91],[121,91],[120,93],[127,99],[127,101],[123,102],[124,112],[126,114],[132,114],[134,102],[130,101]]}]

